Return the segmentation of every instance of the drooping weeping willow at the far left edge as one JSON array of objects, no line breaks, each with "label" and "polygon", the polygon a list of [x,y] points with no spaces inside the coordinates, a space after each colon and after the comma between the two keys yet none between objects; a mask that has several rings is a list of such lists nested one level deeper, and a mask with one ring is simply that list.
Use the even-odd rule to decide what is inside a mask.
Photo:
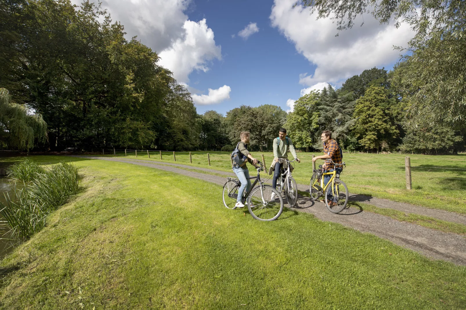
[{"label": "drooping weeping willow at the far left edge", "polygon": [[29,150],[34,140],[44,143],[47,124],[42,115],[29,115],[27,107],[10,102],[7,89],[0,88],[0,141],[6,148]]}]

